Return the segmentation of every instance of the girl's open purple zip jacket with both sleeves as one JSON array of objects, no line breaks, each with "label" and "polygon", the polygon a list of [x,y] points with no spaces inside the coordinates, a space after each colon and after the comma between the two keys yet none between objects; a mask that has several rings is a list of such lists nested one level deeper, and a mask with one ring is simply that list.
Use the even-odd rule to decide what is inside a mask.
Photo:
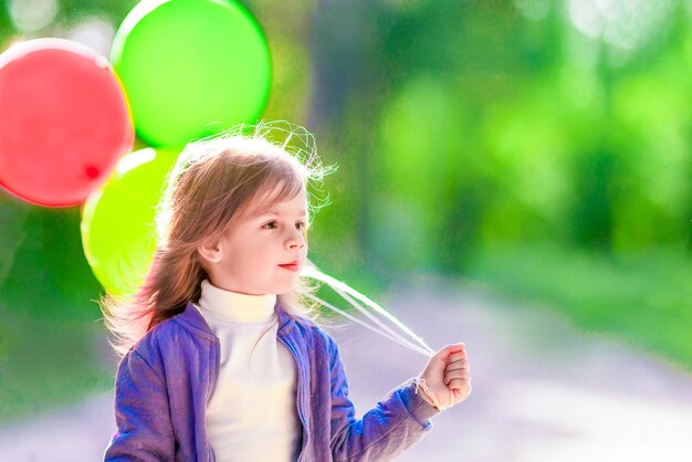
[{"label": "girl's open purple zip jacket with both sleeves", "polygon": [[[297,366],[298,461],[391,460],[432,428],[429,419],[438,411],[415,392],[411,380],[356,420],[334,339],[279,304],[274,309],[277,337]],[[104,460],[212,462],[205,411],[219,372],[219,338],[190,303],[147,333],[118,365],[117,432]]]}]

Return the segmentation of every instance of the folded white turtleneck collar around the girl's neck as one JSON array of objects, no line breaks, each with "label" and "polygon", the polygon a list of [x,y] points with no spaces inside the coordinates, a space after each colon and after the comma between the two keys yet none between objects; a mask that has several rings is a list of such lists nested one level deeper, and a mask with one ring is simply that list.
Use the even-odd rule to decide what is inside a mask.
[{"label": "folded white turtleneck collar around the girl's neck", "polygon": [[203,280],[197,304],[201,309],[221,315],[229,322],[256,323],[268,321],[274,314],[276,294],[241,294],[219,288]]}]

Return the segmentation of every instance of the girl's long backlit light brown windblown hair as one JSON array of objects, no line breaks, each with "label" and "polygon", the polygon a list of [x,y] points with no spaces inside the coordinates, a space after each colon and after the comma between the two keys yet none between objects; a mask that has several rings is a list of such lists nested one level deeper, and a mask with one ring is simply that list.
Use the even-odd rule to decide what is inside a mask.
[{"label": "girl's long backlit light brown windblown hair", "polygon": [[[310,222],[328,200],[307,187],[319,190],[323,177],[334,169],[322,166],[313,135],[287,123],[241,125],[188,144],[158,204],[157,244],[145,282],[130,296],[106,294],[99,302],[106,327],[116,337],[111,342],[116,354],[124,356],[147,332],[185,311],[188,301],[199,300],[208,277],[197,251],[203,240],[232,230],[253,200],[276,188],[274,203],[306,191]],[[306,296],[315,291],[301,277],[277,298],[290,315],[316,321],[317,306]]]}]

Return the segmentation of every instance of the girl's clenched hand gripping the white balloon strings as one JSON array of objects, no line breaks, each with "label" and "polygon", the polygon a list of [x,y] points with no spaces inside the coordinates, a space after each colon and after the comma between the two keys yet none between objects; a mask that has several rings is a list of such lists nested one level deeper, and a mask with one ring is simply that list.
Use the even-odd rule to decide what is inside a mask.
[{"label": "girl's clenched hand gripping the white balloon strings", "polygon": [[471,395],[471,377],[464,344],[447,345],[430,358],[420,378],[426,380],[441,409],[451,408]]}]

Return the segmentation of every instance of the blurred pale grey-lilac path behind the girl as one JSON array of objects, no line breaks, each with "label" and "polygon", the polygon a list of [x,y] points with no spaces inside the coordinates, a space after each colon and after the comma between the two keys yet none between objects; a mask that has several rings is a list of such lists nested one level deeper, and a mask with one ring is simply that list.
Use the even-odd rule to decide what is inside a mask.
[{"label": "blurred pale grey-lilac path behind the girl", "polygon": [[[433,349],[463,340],[473,393],[437,416],[401,462],[689,462],[692,376],[585,335],[548,309],[421,280],[382,301]],[[334,332],[360,416],[427,359],[360,326]],[[0,428],[2,460],[92,462],[112,393]],[[48,449],[50,452],[45,452]]]}]

